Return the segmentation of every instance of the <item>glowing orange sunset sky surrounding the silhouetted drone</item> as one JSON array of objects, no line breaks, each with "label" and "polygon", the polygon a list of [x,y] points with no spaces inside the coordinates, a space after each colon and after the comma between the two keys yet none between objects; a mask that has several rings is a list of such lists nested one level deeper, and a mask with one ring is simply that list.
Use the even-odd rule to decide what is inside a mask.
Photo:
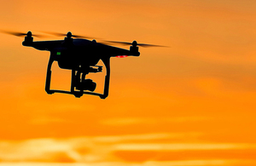
[{"label": "glowing orange sunset sky surrounding the silhouetted drone", "polygon": [[49,52],[1,33],[0,165],[256,165],[256,1],[1,0],[0,23],[170,46],[112,58],[108,98],[78,99],[46,94]]}]

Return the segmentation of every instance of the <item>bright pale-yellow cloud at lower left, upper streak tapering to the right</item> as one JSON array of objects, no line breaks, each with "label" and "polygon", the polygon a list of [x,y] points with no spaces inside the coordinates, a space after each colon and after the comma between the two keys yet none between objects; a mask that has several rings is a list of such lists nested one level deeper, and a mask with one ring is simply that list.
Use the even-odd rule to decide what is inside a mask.
[{"label": "bright pale-yellow cloud at lower left, upper streak tapering to the right", "polygon": [[111,157],[113,145],[123,141],[168,139],[172,134],[110,135],[70,139],[0,141],[3,162],[96,162]]}]

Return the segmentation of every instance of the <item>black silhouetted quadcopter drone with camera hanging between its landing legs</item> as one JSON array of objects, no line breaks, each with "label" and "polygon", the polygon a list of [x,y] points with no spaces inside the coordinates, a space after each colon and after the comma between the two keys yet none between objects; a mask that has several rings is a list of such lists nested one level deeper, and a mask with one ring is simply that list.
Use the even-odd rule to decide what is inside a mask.
[{"label": "black silhouetted quadcopter drone with camera hanging between its landing legs", "polygon": [[[51,41],[33,41],[33,37],[40,37],[39,35],[32,35],[31,31],[27,33],[3,31],[18,37],[24,37],[23,46],[32,47],[38,50],[46,50],[50,52],[49,63],[47,66],[45,91],[47,94],[63,93],[73,94],[75,97],[81,97],[83,94],[97,95],[101,99],[108,97],[109,80],[110,80],[110,58],[112,57],[127,57],[139,56],[137,46],[142,47],[159,47],[160,45],[117,41],[105,41],[108,43],[119,43],[124,45],[131,45],[130,49],[121,49],[108,45],[106,43],[97,43],[95,39],[89,40],[82,38],[83,36],[73,35],[70,31],[67,34],[54,33],[56,36],[65,36],[64,40]],[[53,34],[53,33],[52,33]],[[88,37],[87,37],[88,38]],[[162,47],[162,46],[160,46]],[[102,66],[96,66],[98,61],[102,60],[106,68],[106,76],[104,83],[103,94],[95,93],[96,83],[93,80],[86,78],[89,73],[102,72]],[[50,89],[51,80],[51,66],[54,61],[58,62],[61,69],[71,70],[71,88],[70,91],[60,89]]]}]

